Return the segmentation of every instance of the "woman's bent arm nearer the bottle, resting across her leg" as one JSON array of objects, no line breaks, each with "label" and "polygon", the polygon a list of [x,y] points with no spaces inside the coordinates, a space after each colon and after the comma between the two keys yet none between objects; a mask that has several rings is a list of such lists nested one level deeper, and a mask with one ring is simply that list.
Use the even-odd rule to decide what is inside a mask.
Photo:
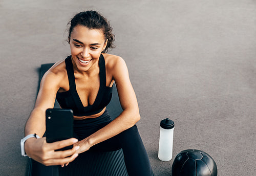
[{"label": "woman's bent arm nearer the bottle, resting across her leg", "polygon": [[107,71],[111,72],[115,80],[123,112],[111,123],[96,131],[96,133],[79,141],[76,144],[80,146],[79,152],[84,152],[91,146],[116,136],[134,126],[140,120],[138,102],[124,60],[120,57],[113,58],[113,65]]}]

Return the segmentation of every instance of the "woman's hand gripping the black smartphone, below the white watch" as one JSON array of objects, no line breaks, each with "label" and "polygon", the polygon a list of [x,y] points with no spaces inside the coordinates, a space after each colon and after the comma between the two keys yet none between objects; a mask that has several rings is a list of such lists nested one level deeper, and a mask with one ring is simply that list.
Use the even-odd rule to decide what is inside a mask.
[{"label": "woman's hand gripping the black smartphone, below the white watch", "polygon": [[25,151],[27,155],[35,161],[46,166],[65,165],[75,160],[78,156],[79,146],[65,151],[55,151],[69,145],[77,143],[77,139],[70,138],[63,141],[47,143],[46,138],[30,138],[25,143]]}]

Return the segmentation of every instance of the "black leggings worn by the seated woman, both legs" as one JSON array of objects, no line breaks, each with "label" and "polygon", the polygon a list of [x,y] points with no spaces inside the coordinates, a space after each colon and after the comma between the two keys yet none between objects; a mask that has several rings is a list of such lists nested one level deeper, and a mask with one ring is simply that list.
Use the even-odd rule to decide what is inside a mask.
[{"label": "black leggings worn by the seated woman, both legs", "polygon": [[[106,110],[100,117],[84,120],[74,120],[74,138],[82,140],[87,138],[91,134],[95,133],[100,128],[109,124],[112,121],[108,111]],[[91,151],[115,151],[122,148],[124,163],[127,173],[132,176],[151,176],[153,175],[150,161],[148,159],[146,150],[139,135],[137,126],[124,130],[122,133],[94,145],[87,152]],[[82,153],[78,157],[83,157]],[[78,161],[78,160],[77,160]],[[83,169],[83,167],[76,167],[76,160],[71,162],[69,166],[60,168],[59,166],[44,166],[34,160],[32,160],[31,175],[67,175],[68,170],[72,171],[72,174],[76,175],[75,171]],[[74,167],[74,168],[69,168]],[[60,169],[60,170],[59,170]],[[78,169],[78,170],[76,170]],[[75,171],[73,171],[75,170]],[[60,172],[60,173],[59,173]],[[66,172],[66,173],[65,173]],[[63,174],[64,173],[64,174]]]}]

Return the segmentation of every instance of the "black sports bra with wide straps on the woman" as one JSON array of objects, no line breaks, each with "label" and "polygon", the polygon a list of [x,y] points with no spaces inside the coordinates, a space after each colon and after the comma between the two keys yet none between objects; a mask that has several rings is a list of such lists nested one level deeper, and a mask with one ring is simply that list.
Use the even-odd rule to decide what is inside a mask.
[{"label": "black sports bra with wide straps on the woman", "polygon": [[57,92],[56,99],[61,108],[72,109],[74,116],[89,116],[100,113],[109,104],[112,98],[112,87],[106,86],[105,60],[101,54],[99,57],[99,78],[100,86],[97,97],[92,105],[83,106],[76,91],[75,75],[71,56],[65,59],[66,69],[69,78],[69,91]]}]

